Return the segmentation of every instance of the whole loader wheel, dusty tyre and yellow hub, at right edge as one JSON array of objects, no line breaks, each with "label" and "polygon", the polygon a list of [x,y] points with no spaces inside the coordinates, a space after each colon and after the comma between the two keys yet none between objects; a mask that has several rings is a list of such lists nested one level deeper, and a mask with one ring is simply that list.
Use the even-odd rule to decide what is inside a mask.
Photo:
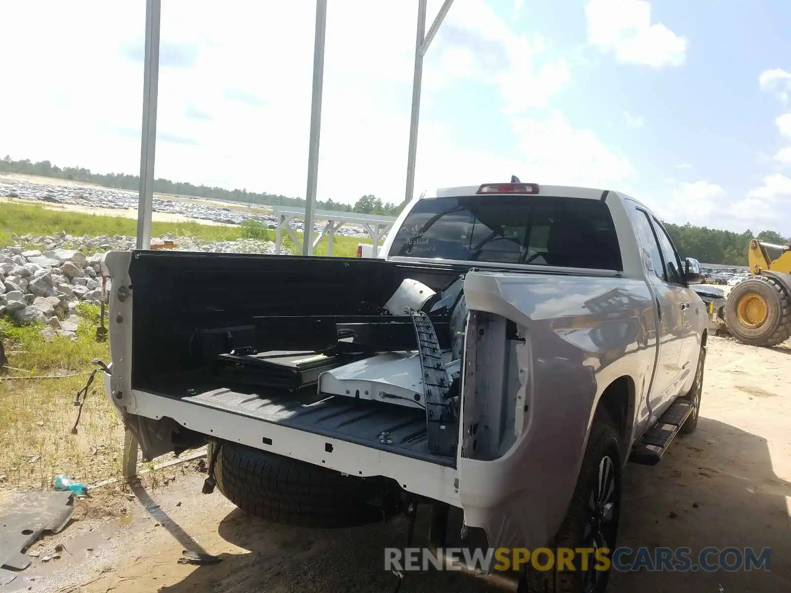
[{"label": "whole loader wheel, dusty tyre and yellow hub, at right edge", "polygon": [[740,342],[777,346],[791,337],[791,297],[774,278],[745,280],[728,295],[725,324]]}]

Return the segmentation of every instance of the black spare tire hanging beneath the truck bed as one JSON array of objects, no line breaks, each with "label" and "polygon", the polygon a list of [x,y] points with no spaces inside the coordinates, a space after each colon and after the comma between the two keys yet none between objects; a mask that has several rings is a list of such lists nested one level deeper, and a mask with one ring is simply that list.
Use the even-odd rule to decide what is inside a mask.
[{"label": "black spare tire hanging beneath the truck bed", "polygon": [[[214,444],[209,444],[211,459]],[[363,478],[224,442],[214,466],[220,492],[242,511],[293,527],[357,527],[383,519]]]}]

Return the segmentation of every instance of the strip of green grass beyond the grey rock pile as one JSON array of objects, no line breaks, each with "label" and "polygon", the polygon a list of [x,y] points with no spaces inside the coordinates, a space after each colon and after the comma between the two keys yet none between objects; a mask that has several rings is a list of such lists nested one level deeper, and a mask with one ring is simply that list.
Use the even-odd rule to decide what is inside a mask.
[{"label": "strip of green grass beyond the grey rock pile", "polygon": [[[78,212],[59,212],[34,204],[0,202],[0,247],[12,243],[11,235],[55,235],[60,231],[74,236],[123,235],[135,236],[137,221],[133,218],[97,216]],[[192,236],[206,241],[228,241],[242,238],[274,241],[274,231],[260,223],[250,221],[247,225],[216,226],[199,222],[153,222],[151,234],[155,237],[166,233],[176,236]],[[295,233],[302,240],[302,233]],[[335,236],[332,255],[354,257],[358,243],[371,243],[369,237]],[[283,245],[296,253],[297,247],[286,233]],[[327,237],[313,250],[314,255],[327,255]]]}]

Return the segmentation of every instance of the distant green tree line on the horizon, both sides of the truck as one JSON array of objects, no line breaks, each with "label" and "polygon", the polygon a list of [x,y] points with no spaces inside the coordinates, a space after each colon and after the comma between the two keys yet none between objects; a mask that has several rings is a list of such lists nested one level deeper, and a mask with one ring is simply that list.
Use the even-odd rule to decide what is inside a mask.
[{"label": "distant green tree line on the horizon, both sides of the truck", "polygon": [[[0,161],[0,172],[22,173],[58,179],[69,179],[82,183],[95,183],[104,187],[137,191],[139,177],[123,173],[94,173],[90,169],[81,167],[58,167],[50,161],[32,162],[29,159],[13,161],[6,156]],[[161,194],[187,195],[198,198],[210,198],[226,202],[244,202],[263,206],[297,206],[305,207],[305,198],[289,198],[285,195],[255,193],[246,189],[226,190],[222,187],[209,187],[206,185],[193,185],[192,183],[175,182],[170,179],[155,179],[153,189]],[[382,202],[374,195],[364,195],[358,199],[354,206],[327,200],[316,202],[319,210],[335,210],[341,212],[358,212],[365,214],[379,214],[380,216],[396,216],[406,202],[393,204]],[[694,257],[702,263],[718,263],[729,266],[747,265],[747,246],[752,238],[766,241],[767,243],[785,244],[789,238],[778,232],[764,230],[753,235],[750,229],[744,232],[723,231],[707,227],[686,225],[673,225],[664,223],[668,229],[673,243],[682,257]]]}]

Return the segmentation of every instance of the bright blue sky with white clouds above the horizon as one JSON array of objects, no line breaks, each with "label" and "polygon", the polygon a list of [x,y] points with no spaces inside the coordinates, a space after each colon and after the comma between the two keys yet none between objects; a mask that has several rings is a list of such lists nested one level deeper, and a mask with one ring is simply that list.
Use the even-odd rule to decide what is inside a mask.
[{"label": "bright blue sky with white clouds above the horizon", "polygon": [[[139,172],[145,5],[0,4],[0,154]],[[156,176],[304,197],[315,2],[162,5]],[[319,199],[403,201],[417,12],[329,0]],[[787,0],[455,0],[415,192],[517,175],[791,236],[789,21]]]}]

